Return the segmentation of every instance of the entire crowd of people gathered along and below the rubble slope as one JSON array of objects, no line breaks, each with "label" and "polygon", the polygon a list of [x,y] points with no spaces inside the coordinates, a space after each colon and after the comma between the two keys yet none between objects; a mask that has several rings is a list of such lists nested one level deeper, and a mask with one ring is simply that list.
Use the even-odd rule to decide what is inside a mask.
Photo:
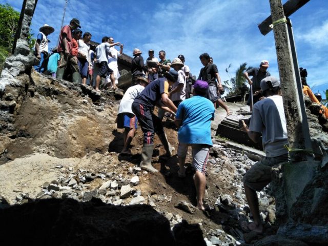
[{"label": "entire crowd of people gathered along and below the rubble slope", "polygon": [[[54,78],[67,79],[74,83],[90,86],[95,78],[95,90],[99,90],[103,79],[103,89],[116,88],[120,76],[117,58],[122,55],[124,45],[114,42],[113,37],[103,37],[95,51],[90,49],[91,33],[83,33],[79,20],[73,18],[69,25],[60,30],[58,47],[48,53],[47,36],[54,31],[48,25],[40,28],[35,42],[35,55],[39,65],[35,70],[48,73]],[[120,50],[116,50],[119,46]],[[137,122],[144,134],[141,150],[140,167],[149,172],[158,170],[152,166],[154,135],[158,135],[166,150],[166,157],[171,157],[174,148],[170,145],[162,126],[163,117],[170,117],[178,128],[178,177],[186,176],[186,157],[188,147],[192,148],[191,166],[195,170],[194,182],[197,192],[197,208],[206,210],[204,194],[206,189],[206,166],[209,148],[212,147],[211,120],[215,116],[216,104],[232,115],[224,104],[221,94],[223,86],[217,66],[208,53],[199,56],[203,67],[195,81],[190,68],[185,65],[185,56],[179,54],[172,61],[166,52],[160,50],[158,58],[154,50],[149,50],[149,57],[144,60],[140,49],[133,50],[131,61],[132,85],[120,101],[117,114],[117,128],[124,129],[124,148],[121,155],[131,155],[130,144],[137,129]],[[286,120],[279,79],[267,71],[268,60],[262,60],[260,66],[243,73],[250,85],[248,105],[252,118],[248,126],[242,121],[240,130],[246,132],[255,142],[261,141],[266,157],[258,161],[243,177],[245,194],[253,214],[253,223],[241,221],[244,231],[261,233],[261,224],[256,191],[262,190],[271,181],[271,168],[278,163],[288,161]],[[94,70],[97,70],[94,73]],[[302,71],[301,71],[302,74]],[[252,78],[250,78],[252,76]],[[302,76],[303,92],[314,103],[320,105],[321,95],[313,94],[306,84],[306,75]],[[158,108],[157,115],[154,108]],[[326,117],[328,112],[321,107]]]}]

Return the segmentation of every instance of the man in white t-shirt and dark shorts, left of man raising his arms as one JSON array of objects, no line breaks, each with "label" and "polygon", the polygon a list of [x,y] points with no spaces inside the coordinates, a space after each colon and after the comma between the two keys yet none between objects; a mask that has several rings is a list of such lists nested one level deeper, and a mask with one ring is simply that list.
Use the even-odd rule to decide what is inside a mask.
[{"label": "man in white t-shirt and dark shorts, left of man raising his arms", "polygon": [[96,77],[96,91],[99,91],[100,77],[106,78],[110,76],[112,83],[114,83],[115,78],[113,70],[108,67],[108,56],[111,56],[110,45],[108,44],[109,37],[103,37],[101,39],[101,44],[96,47],[97,62],[96,66],[99,68],[99,72]]}]

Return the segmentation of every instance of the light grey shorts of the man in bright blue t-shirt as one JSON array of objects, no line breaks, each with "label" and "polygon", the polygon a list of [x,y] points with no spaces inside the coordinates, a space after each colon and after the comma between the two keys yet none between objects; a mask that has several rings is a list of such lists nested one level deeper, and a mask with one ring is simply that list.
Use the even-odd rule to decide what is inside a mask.
[{"label": "light grey shorts of the man in bright blue t-shirt", "polygon": [[193,168],[206,175],[206,166],[209,159],[210,149],[209,145],[201,144],[181,144],[179,142],[178,157],[185,158],[187,156],[188,146],[191,146],[193,153]]}]

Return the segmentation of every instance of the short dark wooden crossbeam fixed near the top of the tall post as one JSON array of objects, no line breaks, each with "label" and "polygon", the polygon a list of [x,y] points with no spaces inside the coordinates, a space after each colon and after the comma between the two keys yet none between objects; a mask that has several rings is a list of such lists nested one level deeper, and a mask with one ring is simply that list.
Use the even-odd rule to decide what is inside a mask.
[{"label": "short dark wooden crossbeam fixed near the top of the tall post", "polygon": [[[289,0],[283,5],[283,12],[286,17],[291,16],[298,9],[300,9],[304,4],[308,3],[310,0]],[[260,32],[265,36],[272,31],[270,27],[272,25],[272,16],[264,19],[261,24],[258,24]]]}]

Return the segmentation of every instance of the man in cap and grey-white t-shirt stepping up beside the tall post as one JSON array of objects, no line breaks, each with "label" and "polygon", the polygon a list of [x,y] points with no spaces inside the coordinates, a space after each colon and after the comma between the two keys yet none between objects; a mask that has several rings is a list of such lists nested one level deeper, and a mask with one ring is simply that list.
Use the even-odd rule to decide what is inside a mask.
[{"label": "man in cap and grey-white t-shirt stepping up beside the tall post", "polygon": [[280,81],[273,76],[266,77],[261,80],[260,88],[265,98],[254,105],[250,127],[242,120],[243,126],[240,129],[254,142],[261,141],[262,134],[265,157],[256,162],[242,179],[254,222],[241,221],[241,228],[246,232],[258,233],[263,231],[263,226],[256,192],[271,182],[272,167],[288,161],[288,150],[284,148],[284,145],[288,145],[288,139]]}]

